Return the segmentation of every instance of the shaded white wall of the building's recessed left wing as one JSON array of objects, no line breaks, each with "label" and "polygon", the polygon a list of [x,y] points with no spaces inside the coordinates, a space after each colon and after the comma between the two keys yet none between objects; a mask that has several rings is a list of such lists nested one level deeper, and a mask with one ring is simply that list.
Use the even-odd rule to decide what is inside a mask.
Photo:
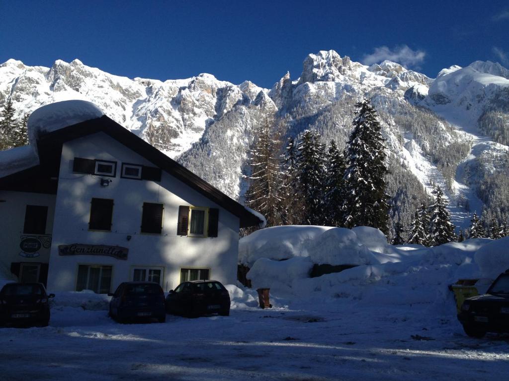
[{"label": "shaded white wall of the building's recessed left wing", "polygon": [[48,207],[46,234],[50,235],[53,229],[55,199],[55,195],[0,190],[0,200],[5,200],[0,202],[0,272],[10,274],[11,262],[49,262],[49,248],[41,247],[38,257],[25,258],[19,255],[19,244],[21,236],[25,235],[23,227],[26,205]]}]

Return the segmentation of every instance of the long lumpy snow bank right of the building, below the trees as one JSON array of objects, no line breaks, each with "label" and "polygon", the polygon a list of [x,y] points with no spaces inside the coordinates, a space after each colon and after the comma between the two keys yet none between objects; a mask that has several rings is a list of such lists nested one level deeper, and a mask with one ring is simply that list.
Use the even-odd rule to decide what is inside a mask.
[{"label": "long lumpy snow bank right of the building, below the trees", "polygon": [[[448,308],[454,305],[449,284],[480,278],[477,285],[483,292],[509,268],[509,253],[504,251],[508,243],[509,238],[478,238],[430,248],[392,246],[380,231],[367,227],[274,227],[242,238],[239,259],[251,267],[247,278],[253,289],[268,287],[281,298],[350,298],[361,304],[430,303]],[[310,278],[314,264],[358,266]]]}]

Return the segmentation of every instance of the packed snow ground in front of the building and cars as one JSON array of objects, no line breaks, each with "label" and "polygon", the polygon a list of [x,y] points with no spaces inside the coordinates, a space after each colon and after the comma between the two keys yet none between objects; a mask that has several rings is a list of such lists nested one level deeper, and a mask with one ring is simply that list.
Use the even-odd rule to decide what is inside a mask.
[{"label": "packed snow ground in front of the building and cars", "polygon": [[509,336],[472,339],[436,312],[337,298],[123,325],[60,306],[47,328],[0,329],[2,379],[506,379]]}]

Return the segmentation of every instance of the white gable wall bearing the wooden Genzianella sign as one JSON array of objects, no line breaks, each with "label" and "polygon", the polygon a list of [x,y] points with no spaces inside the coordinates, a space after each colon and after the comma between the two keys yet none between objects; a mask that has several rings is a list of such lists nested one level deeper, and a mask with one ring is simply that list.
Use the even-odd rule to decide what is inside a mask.
[{"label": "white gable wall bearing the wooden Genzianella sign", "polygon": [[[101,176],[72,172],[74,157],[117,161],[117,176],[100,186]],[[237,278],[239,219],[163,171],[160,183],[120,178],[122,162],[154,166],[103,133],[65,143],[56,197],[48,290],[75,290],[79,264],[112,265],[111,291],[131,280],[133,265],[164,267],[163,289],[175,288],[182,267],[210,268],[210,277],[222,283]],[[89,231],[92,198],[114,199],[111,232]],[[161,235],[140,234],[144,202],[163,203]],[[219,208],[218,237],[177,236],[180,205]],[[127,236],[132,238],[127,240]],[[59,256],[63,244],[118,245],[129,249],[128,260],[106,256]]]}]

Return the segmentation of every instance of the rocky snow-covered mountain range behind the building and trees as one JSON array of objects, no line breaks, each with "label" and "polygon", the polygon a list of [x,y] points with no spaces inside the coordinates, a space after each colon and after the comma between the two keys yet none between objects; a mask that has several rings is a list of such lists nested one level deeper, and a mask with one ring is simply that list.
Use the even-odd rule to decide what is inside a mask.
[{"label": "rocky snow-covered mountain range behind the building and trees", "polygon": [[341,148],[363,97],[379,111],[388,142],[394,219],[408,223],[435,184],[447,189],[460,227],[484,207],[488,217],[507,218],[509,70],[498,63],[451,66],[432,79],[395,62],[367,67],[320,51],[304,59],[298,78],[287,73],[271,89],[210,74],[129,79],[78,59],[0,65],[0,105],[10,98],[19,117],[52,102],[91,101],[235,199],[245,189],[253,129],[265,118],[275,115],[286,136],[316,129]]}]

